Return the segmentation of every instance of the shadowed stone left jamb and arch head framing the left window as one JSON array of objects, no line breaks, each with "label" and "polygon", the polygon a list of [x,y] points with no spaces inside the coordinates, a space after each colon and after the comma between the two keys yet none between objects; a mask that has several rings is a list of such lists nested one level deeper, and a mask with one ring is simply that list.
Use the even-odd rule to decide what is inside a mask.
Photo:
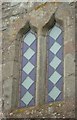
[{"label": "shadowed stone left jamb and arch head framing the left window", "polygon": [[27,21],[23,28],[19,30],[15,40],[15,57],[13,66],[13,84],[12,84],[12,109],[18,107],[19,101],[19,84],[21,80],[21,58],[22,58],[22,42],[25,34],[32,30],[37,34],[37,28]]}]

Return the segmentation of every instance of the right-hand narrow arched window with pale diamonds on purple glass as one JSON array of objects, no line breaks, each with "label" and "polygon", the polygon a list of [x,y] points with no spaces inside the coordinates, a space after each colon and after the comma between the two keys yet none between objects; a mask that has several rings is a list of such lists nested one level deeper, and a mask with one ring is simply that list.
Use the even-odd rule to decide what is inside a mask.
[{"label": "right-hand narrow arched window with pale diamonds on purple glass", "polygon": [[63,35],[55,24],[48,32],[48,87],[47,102],[62,100],[63,93]]}]

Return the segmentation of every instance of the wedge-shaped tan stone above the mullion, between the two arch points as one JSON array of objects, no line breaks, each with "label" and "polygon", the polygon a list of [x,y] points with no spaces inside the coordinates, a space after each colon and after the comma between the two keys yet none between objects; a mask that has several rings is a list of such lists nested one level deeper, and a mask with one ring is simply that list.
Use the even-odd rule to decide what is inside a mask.
[{"label": "wedge-shaped tan stone above the mullion, between the two arch points", "polygon": [[33,10],[29,14],[32,25],[34,26],[36,25],[37,28],[43,27],[49,21],[49,19],[53,16],[58,6],[59,6],[58,4],[55,6],[55,4],[47,3],[47,5],[43,5],[43,7],[39,6],[39,8],[36,8],[35,10]]}]

